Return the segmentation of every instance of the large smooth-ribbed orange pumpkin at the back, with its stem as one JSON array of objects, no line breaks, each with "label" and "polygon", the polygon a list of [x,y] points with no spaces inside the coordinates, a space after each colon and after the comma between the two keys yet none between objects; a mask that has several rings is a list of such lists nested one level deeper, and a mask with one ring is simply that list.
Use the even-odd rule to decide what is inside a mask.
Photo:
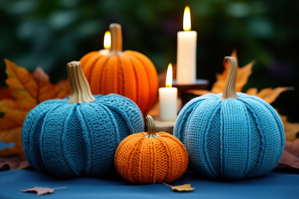
[{"label": "large smooth-ribbed orange pumpkin at the back, with its stem", "polygon": [[92,94],[117,93],[132,99],[145,115],[155,102],[158,75],[147,56],[122,51],[120,24],[110,24],[111,48],[108,55],[93,51],[81,59]]}]

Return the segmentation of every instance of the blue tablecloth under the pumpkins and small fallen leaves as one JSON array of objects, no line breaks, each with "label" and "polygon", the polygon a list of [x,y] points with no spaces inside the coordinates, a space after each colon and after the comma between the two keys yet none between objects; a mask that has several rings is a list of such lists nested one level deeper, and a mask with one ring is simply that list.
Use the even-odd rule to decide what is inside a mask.
[{"label": "blue tablecloth under the pumpkins and small fallen leaves", "polygon": [[[195,189],[182,193],[173,192],[163,184],[132,185],[118,175],[111,175],[110,179],[57,179],[34,170],[7,170],[0,172],[0,198],[299,198],[299,171],[285,167],[277,167],[260,178],[241,181],[215,181],[187,171],[170,185],[190,183]],[[53,194],[42,196],[15,191],[33,186],[68,188],[57,189]]]}]

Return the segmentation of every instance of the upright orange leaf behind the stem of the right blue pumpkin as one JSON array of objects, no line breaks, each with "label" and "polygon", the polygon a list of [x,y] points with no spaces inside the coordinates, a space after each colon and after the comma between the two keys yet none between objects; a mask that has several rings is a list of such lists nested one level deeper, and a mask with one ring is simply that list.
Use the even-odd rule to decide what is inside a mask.
[{"label": "upright orange leaf behind the stem of the right blue pumpkin", "polygon": [[[237,50],[234,49],[233,52],[231,53],[231,57],[235,57],[238,62],[237,58]],[[251,61],[250,63],[246,64],[242,68],[239,67],[238,64],[238,69],[237,69],[237,81],[236,81],[236,92],[241,92],[244,85],[247,83],[249,76],[251,75],[252,72],[252,66],[254,65],[255,61]],[[224,71],[222,74],[217,73],[216,74],[216,82],[213,84],[211,91],[208,90],[188,90],[186,92],[188,93],[193,93],[194,95],[204,95],[207,93],[220,93],[223,92],[224,85],[225,85],[225,79],[228,73],[228,61],[224,59],[223,61],[223,67]]]}]

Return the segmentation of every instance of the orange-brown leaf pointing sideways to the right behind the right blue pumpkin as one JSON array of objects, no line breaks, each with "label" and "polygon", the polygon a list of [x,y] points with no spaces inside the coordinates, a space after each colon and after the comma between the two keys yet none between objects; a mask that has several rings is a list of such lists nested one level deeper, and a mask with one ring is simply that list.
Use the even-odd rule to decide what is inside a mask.
[{"label": "orange-brown leaf pointing sideways to the right behind the right blue pumpkin", "polygon": [[293,87],[277,87],[277,88],[264,88],[260,90],[260,92],[257,92],[257,88],[250,88],[246,91],[246,94],[248,95],[255,95],[259,98],[262,98],[269,104],[274,102],[276,98],[282,93],[283,91],[286,90],[294,90]]}]

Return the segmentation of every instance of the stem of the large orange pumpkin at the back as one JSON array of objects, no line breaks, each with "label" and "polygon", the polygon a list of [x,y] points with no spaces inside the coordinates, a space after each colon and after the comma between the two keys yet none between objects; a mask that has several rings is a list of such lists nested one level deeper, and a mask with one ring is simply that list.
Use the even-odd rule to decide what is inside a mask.
[{"label": "stem of the large orange pumpkin at the back", "polygon": [[121,32],[121,25],[116,23],[110,24],[109,30],[111,33],[109,56],[123,55],[123,36]]}]

